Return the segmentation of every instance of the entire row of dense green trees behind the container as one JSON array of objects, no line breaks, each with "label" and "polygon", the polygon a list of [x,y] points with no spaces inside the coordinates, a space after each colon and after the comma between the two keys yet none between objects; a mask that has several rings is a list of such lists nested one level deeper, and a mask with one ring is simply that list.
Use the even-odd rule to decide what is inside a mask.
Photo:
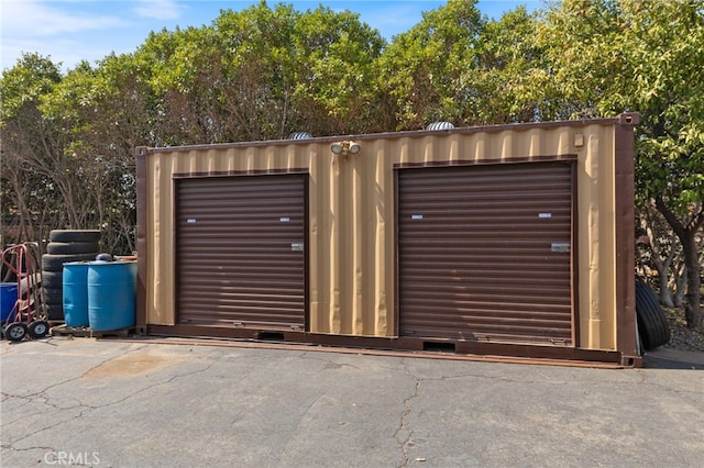
[{"label": "entire row of dense green trees behind the container", "polygon": [[[700,308],[704,0],[564,0],[497,20],[449,0],[391,43],[349,11],[266,2],[153,32],[67,73],[25,54],[0,79],[3,243],[101,229],[135,247],[134,148],[638,111],[641,254]],[[667,299],[667,298],[664,298]]]}]

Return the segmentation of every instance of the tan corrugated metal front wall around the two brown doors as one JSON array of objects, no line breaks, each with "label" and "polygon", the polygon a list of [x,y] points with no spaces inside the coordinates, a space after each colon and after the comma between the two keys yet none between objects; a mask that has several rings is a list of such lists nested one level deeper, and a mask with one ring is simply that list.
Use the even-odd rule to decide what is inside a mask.
[{"label": "tan corrugated metal front wall around the two brown doors", "polygon": [[[174,187],[179,178],[307,174],[308,331],[397,336],[395,168],[574,161],[578,346],[616,344],[614,120],[406,132],[355,137],[358,155],[316,138],[144,148],[146,323],[177,323]],[[510,164],[507,164],[510,163]],[[405,170],[405,169],[404,169]],[[563,336],[563,335],[561,335]]]}]

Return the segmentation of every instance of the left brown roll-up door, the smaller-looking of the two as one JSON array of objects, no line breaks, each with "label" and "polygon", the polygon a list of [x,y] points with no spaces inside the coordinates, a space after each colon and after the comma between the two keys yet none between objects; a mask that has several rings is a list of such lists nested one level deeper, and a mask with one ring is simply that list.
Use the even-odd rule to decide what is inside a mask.
[{"label": "left brown roll-up door, the smaller-looking of the two", "polygon": [[176,180],[182,324],[304,330],[304,175]]}]

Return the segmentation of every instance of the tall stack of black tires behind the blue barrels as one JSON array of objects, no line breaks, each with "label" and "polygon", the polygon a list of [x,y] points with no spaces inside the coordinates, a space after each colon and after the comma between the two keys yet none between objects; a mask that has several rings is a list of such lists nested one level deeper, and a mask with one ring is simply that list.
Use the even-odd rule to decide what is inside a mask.
[{"label": "tall stack of black tires behind the blue barrels", "polygon": [[50,321],[64,320],[64,264],[95,260],[100,253],[100,231],[54,230],[42,256],[42,288]]}]

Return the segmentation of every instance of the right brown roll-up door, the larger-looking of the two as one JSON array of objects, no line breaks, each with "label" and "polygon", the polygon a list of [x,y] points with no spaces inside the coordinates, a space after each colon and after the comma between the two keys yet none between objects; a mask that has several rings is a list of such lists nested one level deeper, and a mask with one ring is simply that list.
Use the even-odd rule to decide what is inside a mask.
[{"label": "right brown roll-up door, the larger-looking of the two", "polygon": [[403,168],[399,334],[573,343],[571,163]]}]

